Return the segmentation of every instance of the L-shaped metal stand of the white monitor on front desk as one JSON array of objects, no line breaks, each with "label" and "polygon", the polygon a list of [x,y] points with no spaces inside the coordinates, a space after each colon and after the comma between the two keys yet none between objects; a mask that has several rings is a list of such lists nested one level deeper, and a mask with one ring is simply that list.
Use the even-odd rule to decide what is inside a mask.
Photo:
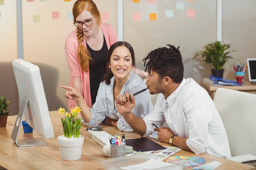
[{"label": "L-shaped metal stand of the white monitor on front desk", "polygon": [[11,133],[11,139],[15,142],[17,146],[20,147],[28,147],[28,146],[44,146],[48,145],[46,140],[42,138],[30,138],[30,139],[19,139],[19,130],[20,130],[20,125],[22,124],[25,108],[27,108],[27,103],[29,104],[29,99],[27,97],[24,97],[22,99],[22,103],[19,108],[19,113],[16,118],[14,128],[13,128],[13,133]]}]

